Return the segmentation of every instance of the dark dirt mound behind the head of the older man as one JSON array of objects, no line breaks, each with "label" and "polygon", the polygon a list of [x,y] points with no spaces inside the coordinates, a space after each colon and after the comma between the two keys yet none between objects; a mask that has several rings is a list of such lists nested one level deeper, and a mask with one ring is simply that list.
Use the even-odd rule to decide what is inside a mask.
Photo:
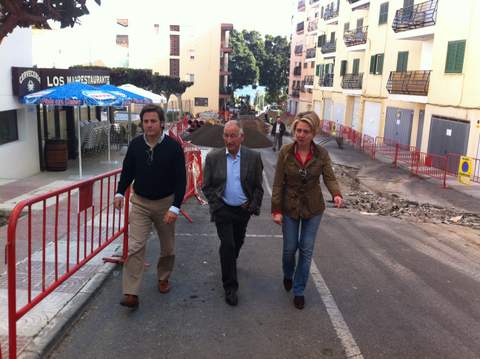
[{"label": "dark dirt mound behind the head of the older man", "polygon": [[[266,148],[272,146],[272,141],[267,136],[260,133],[254,128],[246,127],[243,129],[245,140],[243,145],[250,148]],[[205,125],[190,136],[193,144],[207,147],[224,147],[223,142],[223,126],[221,125]]]}]

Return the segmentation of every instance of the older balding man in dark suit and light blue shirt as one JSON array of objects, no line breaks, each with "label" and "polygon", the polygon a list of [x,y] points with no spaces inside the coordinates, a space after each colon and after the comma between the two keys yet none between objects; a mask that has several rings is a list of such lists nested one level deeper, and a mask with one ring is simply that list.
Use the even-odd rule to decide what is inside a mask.
[{"label": "older balding man in dark suit and light blue shirt", "polygon": [[263,198],[262,158],[244,146],[243,129],[228,121],[225,147],[210,151],[205,161],[203,193],[220,238],[220,263],[225,301],[237,305],[237,258],[252,214],[260,214]]}]

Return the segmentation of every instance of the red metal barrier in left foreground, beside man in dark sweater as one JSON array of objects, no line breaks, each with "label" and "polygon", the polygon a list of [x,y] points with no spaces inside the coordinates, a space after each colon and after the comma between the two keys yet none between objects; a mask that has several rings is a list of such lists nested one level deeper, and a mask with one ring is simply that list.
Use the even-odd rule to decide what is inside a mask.
[{"label": "red metal barrier in left foreground, beside man in dark sweater", "polygon": [[[123,211],[113,206],[120,172],[24,200],[14,208],[6,246],[9,358],[16,357],[17,321],[122,234],[126,259],[130,191],[125,194]],[[48,268],[47,254],[51,257]],[[26,274],[25,281],[19,282],[22,288],[17,288],[17,266],[20,275]],[[18,289],[25,289],[24,297],[17,298]]]}]

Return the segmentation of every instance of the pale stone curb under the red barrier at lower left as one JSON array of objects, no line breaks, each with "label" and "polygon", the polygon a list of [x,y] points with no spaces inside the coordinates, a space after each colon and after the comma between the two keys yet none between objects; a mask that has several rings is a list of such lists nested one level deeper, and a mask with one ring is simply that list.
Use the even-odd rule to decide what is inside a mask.
[{"label": "pale stone curb under the red barrier at lower left", "polygon": [[[115,253],[121,254],[121,246],[115,249]],[[101,269],[85,282],[80,290],[65,304],[55,317],[48,322],[37,335],[32,337],[25,349],[21,353],[18,353],[18,358],[45,358],[58,343],[59,339],[63,337],[66,329],[78,319],[83,309],[116,267],[117,264],[104,263]]]}]

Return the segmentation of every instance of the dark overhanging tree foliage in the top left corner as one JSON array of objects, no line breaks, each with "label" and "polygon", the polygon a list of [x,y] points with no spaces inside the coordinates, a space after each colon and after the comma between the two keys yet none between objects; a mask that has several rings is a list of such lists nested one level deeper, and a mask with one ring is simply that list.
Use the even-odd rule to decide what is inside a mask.
[{"label": "dark overhanging tree foliage in the top left corner", "polygon": [[[100,0],[95,0],[100,5]],[[73,27],[88,14],[86,0],[0,0],[0,43],[17,26],[50,29],[48,20]]]}]

